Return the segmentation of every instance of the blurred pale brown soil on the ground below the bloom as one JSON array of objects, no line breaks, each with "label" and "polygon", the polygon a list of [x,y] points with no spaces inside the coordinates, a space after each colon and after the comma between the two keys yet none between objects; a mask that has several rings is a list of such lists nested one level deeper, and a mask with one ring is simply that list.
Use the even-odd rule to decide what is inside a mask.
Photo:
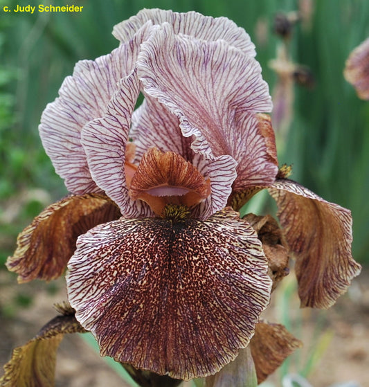
[{"label": "blurred pale brown soil on the ground below the bloom", "polygon": [[[315,366],[307,377],[312,386],[328,387],[335,383],[356,381],[360,387],[369,387],[368,280],[369,271],[365,271],[354,280],[348,294],[325,312],[298,309],[296,296],[289,299],[292,331],[304,342],[304,348],[296,351],[291,358],[289,372],[306,369],[309,359],[312,359],[309,354],[315,350]],[[64,281],[60,279],[55,284],[45,285],[44,282],[35,281],[17,285],[15,276],[0,271],[1,366],[10,359],[12,348],[26,343],[44,323],[56,315],[53,303],[62,302],[66,296]],[[285,309],[278,302],[283,291],[285,289],[281,287],[273,296],[273,306],[267,314],[271,322],[281,322],[280,318],[283,317],[281,314]],[[14,309],[12,305],[19,294],[32,294],[31,305]],[[299,319],[301,322],[297,323]],[[280,386],[278,372],[269,381],[276,387]],[[69,334],[58,351],[56,386],[125,387],[127,384],[84,341],[82,335]]]}]

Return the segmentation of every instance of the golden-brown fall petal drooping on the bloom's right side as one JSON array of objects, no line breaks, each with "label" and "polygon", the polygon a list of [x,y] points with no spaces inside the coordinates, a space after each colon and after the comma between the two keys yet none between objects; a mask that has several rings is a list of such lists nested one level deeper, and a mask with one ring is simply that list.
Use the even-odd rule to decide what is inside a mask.
[{"label": "golden-brown fall petal drooping on the bloom's right side", "polygon": [[332,306],[361,270],[351,254],[350,210],[325,201],[289,179],[278,179],[270,192],[296,257],[301,305]]}]

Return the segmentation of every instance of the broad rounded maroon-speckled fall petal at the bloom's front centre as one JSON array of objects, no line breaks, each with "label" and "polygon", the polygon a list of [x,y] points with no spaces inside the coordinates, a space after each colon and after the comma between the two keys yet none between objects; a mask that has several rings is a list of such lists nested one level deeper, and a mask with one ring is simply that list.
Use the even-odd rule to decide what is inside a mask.
[{"label": "broad rounded maroon-speckled fall petal at the bloom's front centre", "polygon": [[230,209],[97,226],[68,267],[69,302],[101,354],[176,379],[235,359],[271,291],[261,243]]}]

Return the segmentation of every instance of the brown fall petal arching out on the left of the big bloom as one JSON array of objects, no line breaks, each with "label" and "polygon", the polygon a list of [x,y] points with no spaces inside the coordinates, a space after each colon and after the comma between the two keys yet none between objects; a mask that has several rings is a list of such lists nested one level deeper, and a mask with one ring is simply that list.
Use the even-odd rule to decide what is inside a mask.
[{"label": "brown fall petal arching out on the left of the big bloom", "polygon": [[53,280],[64,273],[79,235],[119,217],[117,206],[104,195],[66,197],[48,206],[19,234],[6,266],[19,275],[18,282]]}]

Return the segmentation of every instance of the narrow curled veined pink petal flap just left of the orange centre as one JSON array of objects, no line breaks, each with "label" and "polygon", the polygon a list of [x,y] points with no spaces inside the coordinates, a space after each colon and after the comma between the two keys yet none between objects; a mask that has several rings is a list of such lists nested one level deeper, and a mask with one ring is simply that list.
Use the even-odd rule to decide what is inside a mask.
[{"label": "narrow curled veined pink petal flap just left of the orange centre", "polygon": [[139,86],[136,71],[120,80],[120,89],[111,98],[107,114],[89,122],[82,130],[82,145],[93,180],[126,217],[152,215],[146,204],[141,206],[130,199],[125,177],[128,132]]}]

